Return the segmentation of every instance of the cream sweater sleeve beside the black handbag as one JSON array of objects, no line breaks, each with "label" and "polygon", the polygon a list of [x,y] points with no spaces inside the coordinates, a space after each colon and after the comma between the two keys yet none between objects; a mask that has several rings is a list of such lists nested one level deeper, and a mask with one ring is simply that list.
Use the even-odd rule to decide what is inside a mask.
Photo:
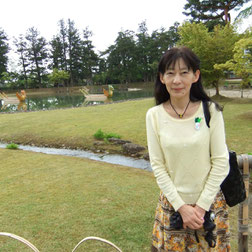
[{"label": "cream sweater sleeve beside the black handbag", "polygon": [[[213,105],[215,106],[215,105]],[[214,111],[213,111],[214,110]],[[211,170],[197,205],[209,210],[220,185],[229,172],[229,154],[225,140],[225,127],[220,111],[212,108],[210,120]]]}]

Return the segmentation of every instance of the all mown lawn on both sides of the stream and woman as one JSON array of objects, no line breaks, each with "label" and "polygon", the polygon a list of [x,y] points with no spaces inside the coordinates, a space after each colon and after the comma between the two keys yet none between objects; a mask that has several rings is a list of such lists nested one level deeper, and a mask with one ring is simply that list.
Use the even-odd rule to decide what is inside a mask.
[{"label": "all mown lawn on both sides of the stream and woman", "polygon": [[[229,148],[237,154],[251,153],[251,100],[221,99],[220,103]],[[153,105],[153,99],[144,99],[0,114],[0,140],[95,149],[93,134],[101,128],[146,146],[145,114]],[[103,148],[120,152],[109,143]],[[23,236],[41,251],[71,251],[91,235],[108,239],[123,251],[149,251],[159,191],[151,173],[20,150],[0,150],[0,160],[4,164],[0,168],[1,231]],[[237,209],[230,209],[233,251],[238,250]],[[15,250],[15,242],[1,241],[1,251],[20,251]],[[87,244],[89,251],[95,251],[92,244]]]}]

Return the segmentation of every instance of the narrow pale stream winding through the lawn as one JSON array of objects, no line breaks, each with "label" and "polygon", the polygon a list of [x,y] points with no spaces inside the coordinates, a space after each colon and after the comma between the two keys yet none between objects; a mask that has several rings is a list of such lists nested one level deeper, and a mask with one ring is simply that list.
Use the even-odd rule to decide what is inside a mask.
[{"label": "narrow pale stream winding through the lawn", "polygon": [[[0,143],[0,148],[6,148],[7,144]],[[91,160],[101,161],[110,164],[118,164],[133,168],[139,168],[147,171],[152,171],[150,162],[145,159],[137,159],[132,157],[126,157],[117,154],[104,154],[93,153],[91,151],[83,150],[71,150],[71,149],[57,149],[47,147],[35,147],[29,145],[18,145],[20,150],[40,152],[51,155],[72,156],[78,158],[87,158]]]}]

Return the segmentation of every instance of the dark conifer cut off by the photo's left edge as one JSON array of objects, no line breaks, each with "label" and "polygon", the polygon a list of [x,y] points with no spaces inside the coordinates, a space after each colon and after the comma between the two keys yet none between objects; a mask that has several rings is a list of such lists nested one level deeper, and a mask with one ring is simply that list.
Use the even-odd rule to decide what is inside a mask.
[{"label": "dark conifer cut off by the photo's left edge", "polygon": [[7,53],[9,52],[9,45],[7,41],[8,39],[4,30],[0,29],[0,78],[3,72],[7,72]]}]

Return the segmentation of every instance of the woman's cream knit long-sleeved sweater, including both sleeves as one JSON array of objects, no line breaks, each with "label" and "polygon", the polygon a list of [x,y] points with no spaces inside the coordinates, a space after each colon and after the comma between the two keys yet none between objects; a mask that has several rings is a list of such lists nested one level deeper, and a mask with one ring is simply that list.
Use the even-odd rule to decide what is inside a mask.
[{"label": "woman's cream knit long-sleeved sweater, including both sleeves", "polygon": [[[162,192],[177,211],[183,204],[209,210],[229,172],[222,113],[210,105],[210,129],[202,102],[190,118],[171,117],[163,104],[146,114],[150,163]],[[195,119],[200,118],[198,129]]]}]

